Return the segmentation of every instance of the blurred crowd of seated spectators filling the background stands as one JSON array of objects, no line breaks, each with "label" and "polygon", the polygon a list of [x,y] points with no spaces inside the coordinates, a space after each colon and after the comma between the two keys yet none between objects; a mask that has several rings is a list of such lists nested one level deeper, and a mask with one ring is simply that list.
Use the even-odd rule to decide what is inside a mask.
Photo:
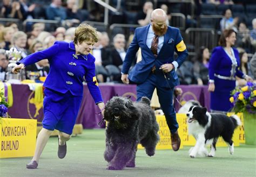
[{"label": "blurred crowd of seated spectators filling the background stands", "polygon": [[[119,9],[118,13],[109,12],[109,25],[113,22],[129,23],[144,26],[150,23],[151,12],[155,8],[163,9],[168,15],[167,24],[172,24],[173,12],[184,12],[185,3],[168,3],[164,1],[138,1],[138,8],[128,8],[126,3],[129,1],[110,1],[110,5]],[[205,4],[214,5],[215,8],[223,5],[226,8],[221,13],[215,15],[223,15],[219,19],[219,25],[215,29],[221,31],[225,29],[233,29],[237,32],[237,43],[235,47],[239,48],[241,66],[240,69],[256,79],[255,63],[250,65],[252,55],[256,47],[256,3],[246,4],[244,1],[191,1],[194,5],[195,13],[184,12],[186,17],[186,27],[198,27],[200,15],[204,15],[202,8]],[[55,41],[71,41],[74,38],[75,27],[84,22],[103,22],[104,8],[95,2],[79,1],[79,0],[52,0],[45,1],[45,4],[39,1],[11,1],[3,0],[1,6],[1,18],[19,19],[22,22],[26,19],[45,19],[57,20],[58,26],[49,25],[47,23],[26,23],[25,26],[18,23],[0,21],[0,68],[1,73],[5,73],[8,60],[4,54],[4,50],[15,47],[21,52],[22,58],[30,53],[42,50],[52,46]],[[234,6],[239,5],[244,8],[244,14],[234,14],[232,11]],[[247,14],[246,8],[254,6],[254,13]],[[178,7],[178,8],[177,8]],[[185,8],[186,9],[186,8]],[[212,14],[212,15],[214,15]],[[207,15],[207,14],[206,14]],[[254,15],[254,16],[253,16]],[[119,17],[122,17],[121,19]],[[254,17],[254,18],[252,18]],[[251,22],[248,23],[248,20]],[[7,20],[8,21],[8,20]],[[196,26],[194,26],[196,24]],[[53,28],[52,28],[53,26]],[[176,26],[174,26],[176,27]],[[120,69],[125,58],[126,49],[129,47],[133,37],[134,27],[130,28],[128,33],[123,31],[110,33],[109,30],[98,31],[99,41],[92,49],[92,54],[96,58],[96,75],[99,82],[121,82]],[[184,39],[185,44],[186,40]],[[254,50],[252,49],[254,48]],[[209,46],[201,46],[193,51],[189,59],[184,62],[178,69],[177,73],[181,84],[207,84],[208,82],[208,62],[211,55]],[[191,51],[189,51],[191,52]],[[255,58],[255,54],[254,54]],[[137,59],[134,59],[136,63]],[[7,65],[6,65],[7,64]],[[49,72],[49,63],[45,59],[41,63],[28,66],[26,69],[26,78],[30,79],[31,72],[39,72],[40,76],[47,76]],[[4,77],[0,77],[5,80]],[[238,84],[244,82],[238,80]]]}]

